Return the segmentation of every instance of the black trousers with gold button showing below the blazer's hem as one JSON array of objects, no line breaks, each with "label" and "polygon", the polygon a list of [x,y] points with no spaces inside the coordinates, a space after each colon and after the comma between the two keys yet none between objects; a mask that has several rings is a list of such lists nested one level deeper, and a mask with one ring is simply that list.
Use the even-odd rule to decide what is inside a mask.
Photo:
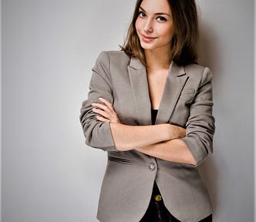
[{"label": "black trousers with gold button showing below the blazer's hem", "polygon": [[[153,185],[150,205],[140,222],[180,222],[180,220],[173,217],[164,206],[157,183],[154,183]],[[212,215],[198,222],[212,222]]]}]

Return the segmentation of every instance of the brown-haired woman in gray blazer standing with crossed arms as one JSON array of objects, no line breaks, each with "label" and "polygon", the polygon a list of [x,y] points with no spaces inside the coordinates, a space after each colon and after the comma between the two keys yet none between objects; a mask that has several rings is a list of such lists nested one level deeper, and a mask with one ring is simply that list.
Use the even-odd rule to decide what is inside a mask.
[{"label": "brown-haired woman in gray blazer standing with crossed arms", "polygon": [[196,166],[212,153],[212,75],[194,0],[138,0],[120,52],[102,52],[80,120],[107,151],[101,222],[211,221]]}]

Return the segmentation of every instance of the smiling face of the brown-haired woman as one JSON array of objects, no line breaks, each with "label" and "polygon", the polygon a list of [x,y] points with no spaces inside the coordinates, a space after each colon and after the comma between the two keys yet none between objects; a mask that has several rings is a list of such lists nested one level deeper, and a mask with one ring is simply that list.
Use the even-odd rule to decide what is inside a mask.
[{"label": "smiling face of the brown-haired woman", "polygon": [[167,0],[143,0],[136,19],[136,33],[144,50],[170,50],[173,19]]}]

